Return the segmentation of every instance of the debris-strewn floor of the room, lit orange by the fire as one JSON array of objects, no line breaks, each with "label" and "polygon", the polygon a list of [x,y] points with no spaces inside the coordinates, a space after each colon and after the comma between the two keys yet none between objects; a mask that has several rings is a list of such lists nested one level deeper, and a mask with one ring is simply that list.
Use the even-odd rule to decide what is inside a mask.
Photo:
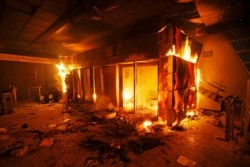
[{"label": "debris-strewn floor of the room, lit orange by the fire", "polygon": [[158,124],[138,130],[133,127],[143,117],[98,120],[93,115],[85,104],[65,111],[59,103],[19,102],[14,113],[0,116],[0,166],[250,166],[241,136],[224,140],[223,115],[201,113],[186,119],[182,130]]}]

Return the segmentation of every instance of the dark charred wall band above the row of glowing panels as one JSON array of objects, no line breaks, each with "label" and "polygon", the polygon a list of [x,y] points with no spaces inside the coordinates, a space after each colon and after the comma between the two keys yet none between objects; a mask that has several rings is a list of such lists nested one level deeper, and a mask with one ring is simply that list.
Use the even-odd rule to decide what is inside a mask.
[{"label": "dark charred wall band above the row of glowing panels", "polygon": [[144,34],[120,43],[79,53],[76,61],[81,67],[133,62],[158,58],[156,34]]}]

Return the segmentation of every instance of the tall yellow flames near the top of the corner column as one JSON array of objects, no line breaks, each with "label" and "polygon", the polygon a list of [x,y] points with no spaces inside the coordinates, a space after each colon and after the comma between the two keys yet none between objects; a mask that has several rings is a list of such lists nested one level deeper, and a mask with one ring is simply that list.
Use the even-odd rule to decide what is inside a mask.
[{"label": "tall yellow flames near the top of the corner column", "polygon": [[176,53],[175,45],[173,45],[172,48],[170,48],[169,51],[166,53],[166,56],[177,56],[192,63],[196,63],[198,59],[197,54],[191,55],[191,47],[188,37],[185,40],[184,46],[182,46],[182,48],[180,49],[180,53]]}]

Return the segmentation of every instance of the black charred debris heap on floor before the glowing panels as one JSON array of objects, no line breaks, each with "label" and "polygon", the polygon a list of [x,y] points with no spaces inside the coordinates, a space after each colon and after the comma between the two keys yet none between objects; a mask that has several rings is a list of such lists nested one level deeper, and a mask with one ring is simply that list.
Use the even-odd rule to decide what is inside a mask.
[{"label": "black charred debris heap on floor before the glowing panels", "polygon": [[[133,117],[135,116],[133,115]],[[131,153],[141,154],[165,145],[163,142],[165,135],[158,133],[164,131],[165,126],[159,126],[154,122],[150,123],[149,120],[142,121],[143,119],[140,117],[137,119],[140,121],[136,121],[134,118],[134,121],[131,122],[118,117],[111,120],[99,120],[100,122],[96,126],[101,129],[101,133],[87,137],[78,143],[78,146],[91,153],[91,156],[86,158],[85,165],[104,164],[106,161],[112,161],[112,164],[129,163]],[[139,123],[149,128],[148,133],[145,129],[141,129],[145,133],[140,135],[136,128]]]}]

